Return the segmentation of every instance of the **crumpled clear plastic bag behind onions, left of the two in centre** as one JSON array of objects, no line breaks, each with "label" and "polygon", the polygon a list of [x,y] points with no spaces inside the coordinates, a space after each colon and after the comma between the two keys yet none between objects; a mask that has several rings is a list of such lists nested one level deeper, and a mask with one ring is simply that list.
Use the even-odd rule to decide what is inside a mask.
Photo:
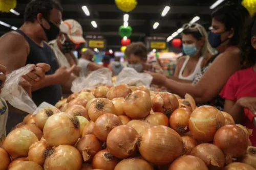
[{"label": "crumpled clear plastic bag behind onions, left of the two in centre", "polygon": [[79,77],[72,82],[71,91],[77,93],[83,89],[95,88],[102,85],[113,85],[112,71],[101,68],[91,72],[87,77]]}]

